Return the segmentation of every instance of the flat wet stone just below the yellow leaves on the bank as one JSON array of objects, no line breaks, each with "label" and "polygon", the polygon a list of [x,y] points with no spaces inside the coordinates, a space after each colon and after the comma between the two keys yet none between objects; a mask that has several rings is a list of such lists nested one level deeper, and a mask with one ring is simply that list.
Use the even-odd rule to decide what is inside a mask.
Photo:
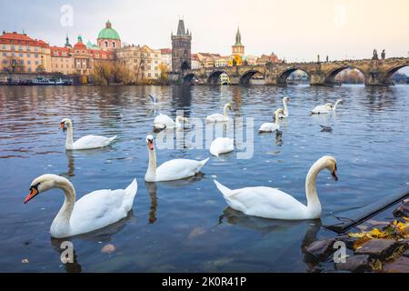
[{"label": "flat wet stone just below the yellow leaves on the bank", "polygon": [[394,239],[372,239],[355,250],[356,255],[369,255],[379,259],[391,256],[399,243]]}]

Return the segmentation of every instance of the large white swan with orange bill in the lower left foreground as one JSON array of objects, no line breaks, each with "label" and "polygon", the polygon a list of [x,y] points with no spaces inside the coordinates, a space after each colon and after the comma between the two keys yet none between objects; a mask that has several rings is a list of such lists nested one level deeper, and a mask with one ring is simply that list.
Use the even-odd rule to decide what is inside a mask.
[{"label": "large white swan with orange bill in the lower left foreground", "polygon": [[134,179],[125,190],[96,190],[75,202],[75,189],[70,181],[62,176],[45,174],[31,183],[25,203],[53,188],[61,189],[65,194],[64,204],[50,227],[51,236],[61,238],[89,233],[124,218],[134,204],[138,185]]}]

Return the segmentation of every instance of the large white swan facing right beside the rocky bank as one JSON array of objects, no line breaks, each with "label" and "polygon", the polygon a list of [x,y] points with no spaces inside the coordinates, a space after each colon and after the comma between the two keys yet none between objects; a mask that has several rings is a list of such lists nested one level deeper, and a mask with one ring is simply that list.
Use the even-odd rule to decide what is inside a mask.
[{"label": "large white swan facing right beside the rocky bank", "polygon": [[315,180],[325,168],[331,172],[335,181],[338,180],[333,156],[323,156],[317,160],[308,171],[305,180],[306,206],[276,188],[258,186],[231,190],[215,180],[214,183],[222,192],[227,204],[245,215],[276,219],[313,219],[321,216]]}]

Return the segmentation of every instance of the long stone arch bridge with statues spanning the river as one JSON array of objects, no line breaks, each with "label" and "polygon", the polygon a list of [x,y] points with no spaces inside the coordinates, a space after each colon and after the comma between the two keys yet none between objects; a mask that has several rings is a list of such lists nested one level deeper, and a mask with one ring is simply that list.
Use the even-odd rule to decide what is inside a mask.
[{"label": "long stone arch bridge with statues spanning the river", "polygon": [[396,71],[409,65],[409,58],[387,58],[383,60],[348,60],[318,63],[284,63],[267,65],[243,65],[209,67],[187,70],[182,73],[185,84],[217,84],[223,73],[232,85],[247,85],[253,75],[263,75],[265,85],[286,85],[287,77],[296,70],[302,70],[310,77],[310,85],[334,85],[335,75],[347,68],[354,68],[364,74],[365,85],[390,85],[389,78]]}]

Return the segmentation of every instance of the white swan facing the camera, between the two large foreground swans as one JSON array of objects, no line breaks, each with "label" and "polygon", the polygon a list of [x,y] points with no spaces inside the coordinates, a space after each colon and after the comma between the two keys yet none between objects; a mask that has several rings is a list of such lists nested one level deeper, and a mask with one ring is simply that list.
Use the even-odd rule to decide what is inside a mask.
[{"label": "white swan facing the camera, between the two large foreground swans", "polygon": [[146,182],[173,181],[195,176],[209,160],[206,158],[199,162],[178,158],[167,161],[156,168],[154,136],[146,136],[146,145],[149,153],[149,166],[145,174]]}]

